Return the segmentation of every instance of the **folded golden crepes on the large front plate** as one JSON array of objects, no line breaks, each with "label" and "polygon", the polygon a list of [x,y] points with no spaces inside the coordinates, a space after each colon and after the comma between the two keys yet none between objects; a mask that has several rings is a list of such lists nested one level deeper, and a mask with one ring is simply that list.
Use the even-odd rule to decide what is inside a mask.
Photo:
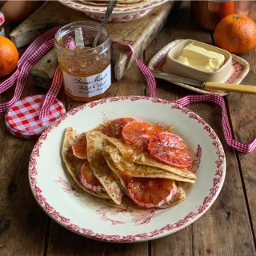
[{"label": "folded golden crepes on the large front plate", "polygon": [[[72,127],[66,129],[62,144],[63,162],[71,177],[74,178],[74,181],[82,188],[82,190],[94,195],[97,201],[122,209],[130,209],[134,207],[166,208],[173,206],[186,198],[186,193],[183,187],[186,184],[195,182],[196,175],[194,173],[186,168],[179,169],[162,164],[152,158],[150,154],[142,152],[142,150],[136,149],[122,141],[122,138],[113,138],[103,134],[103,127],[106,127],[106,125],[107,124],[104,124],[104,126],[98,126],[93,130],[87,131],[86,139],[82,138],[82,136],[85,135],[84,133],[78,134]],[[82,143],[86,142],[85,150],[81,150],[81,148],[84,148],[84,145],[80,145],[79,140],[82,141]],[[78,146],[76,147],[75,145]],[[74,148],[77,148],[79,153],[84,153],[86,158],[82,159],[81,155],[77,154]],[[98,182],[100,182],[99,184],[104,188],[104,191],[95,192],[83,186],[79,174],[85,161],[88,161],[91,175],[94,175],[94,177],[98,179]],[[154,201],[148,203],[147,198],[150,194],[153,198],[155,197],[155,195],[152,194],[153,190],[150,188],[150,190],[146,190],[149,191],[150,194],[144,195],[144,193],[148,192],[140,190],[141,192],[139,193],[142,193],[142,201],[140,202],[142,203],[134,201],[134,196],[132,195],[134,192],[138,193],[138,190],[134,190],[134,188],[131,189],[130,184],[134,183],[130,182],[138,182],[137,184],[141,186],[143,180],[146,182],[146,186],[148,186],[148,182],[157,182],[154,178],[158,178],[160,182],[154,184],[159,184],[158,188],[160,188],[160,190],[156,191],[160,191],[161,198],[162,184],[166,184],[166,182],[168,185],[167,190],[165,191],[170,193],[170,197],[168,196],[169,198],[167,199],[165,195],[163,199],[161,199],[162,201],[157,201],[157,204],[153,204]],[[86,183],[86,186],[87,185],[88,183]],[[168,202],[169,200],[170,202]]]}]

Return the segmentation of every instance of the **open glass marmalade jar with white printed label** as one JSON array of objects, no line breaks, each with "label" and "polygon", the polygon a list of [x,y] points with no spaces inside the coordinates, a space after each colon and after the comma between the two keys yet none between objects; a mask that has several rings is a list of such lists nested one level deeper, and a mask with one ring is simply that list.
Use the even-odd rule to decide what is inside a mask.
[{"label": "open glass marmalade jar with white printed label", "polygon": [[72,22],[55,34],[54,48],[63,72],[65,93],[76,101],[103,98],[111,85],[110,37],[106,29],[92,47],[98,22]]}]

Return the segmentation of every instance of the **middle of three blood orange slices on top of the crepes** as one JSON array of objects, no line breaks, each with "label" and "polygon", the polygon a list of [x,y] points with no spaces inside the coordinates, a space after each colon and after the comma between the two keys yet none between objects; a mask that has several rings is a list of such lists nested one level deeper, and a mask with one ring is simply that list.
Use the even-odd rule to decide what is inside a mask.
[{"label": "middle of three blood orange slices on top of the crepes", "polygon": [[150,139],[165,130],[161,124],[134,121],[123,127],[122,138],[132,146],[147,150]]}]

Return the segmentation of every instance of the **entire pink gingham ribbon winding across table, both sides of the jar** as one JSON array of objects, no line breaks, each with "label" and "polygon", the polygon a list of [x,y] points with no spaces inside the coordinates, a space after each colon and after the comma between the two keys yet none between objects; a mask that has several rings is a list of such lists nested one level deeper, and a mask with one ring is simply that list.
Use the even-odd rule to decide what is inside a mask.
[{"label": "entire pink gingham ribbon winding across table, both sides of the jar", "polygon": [[[40,35],[38,38],[34,40],[27,48],[24,54],[22,54],[22,58],[18,61],[18,68],[14,72],[10,78],[6,79],[6,81],[0,84],[0,94],[5,90],[9,89],[11,86],[14,86],[16,83],[16,87],[14,90],[14,97],[9,102],[0,103],[0,112],[6,111],[14,102],[21,97],[22,90],[25,86],[26,79],[29,75],[29,70],[51,47],[54,45],[54,34],[57,32],[59,28],[55,27],[52,30],[47,31],[46,33]],[[142,73],[145,75],[146,82],[149,87],[150,97],[156,97],[156,82],[154,75],[150,72],[147,66],[142,63],[136,54],[134,53],[134,49],[129,44],[124,42],[113,42],[116,45],[127,47],[128,50],[134,56],[134,60]],[[50,86],[50,90],[46,94],[44,99],[42,109],[40,110],[39,118],[45,118],[47,114],[49,114],[50,106],[54,102],[60,87],[62,86],[62,73],[61,70],[57,67],[54,73],[54,79]],[[256,138],[250,144],[244,144],[242,142],[237,142],[232,138],[232,133],[230,129],[230,123],[228,117],[226,115],[226,106],[224,99],[216,94],[198,94],[198,95],[189,95],[184,98],[180,98],[174,103],[177,103],[182,106],[186,106],[187,104],[194,102],[214,102],[222,107],[222,130],[226,139],[226,143],[238,150],[242,153],[250,153],[256,148]]]}]

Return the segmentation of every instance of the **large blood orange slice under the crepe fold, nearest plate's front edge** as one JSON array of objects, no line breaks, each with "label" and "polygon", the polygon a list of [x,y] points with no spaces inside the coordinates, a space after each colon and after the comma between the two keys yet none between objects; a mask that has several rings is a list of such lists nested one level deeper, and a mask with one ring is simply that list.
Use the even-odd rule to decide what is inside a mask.
[{"label": "large blood orange slice under the crepe fold, nearest plate's front edge", "polygon": [[130,198],[144,208],[162,206],[177,192],[174,180],[166,178],[130,178],[126,186]]}]

